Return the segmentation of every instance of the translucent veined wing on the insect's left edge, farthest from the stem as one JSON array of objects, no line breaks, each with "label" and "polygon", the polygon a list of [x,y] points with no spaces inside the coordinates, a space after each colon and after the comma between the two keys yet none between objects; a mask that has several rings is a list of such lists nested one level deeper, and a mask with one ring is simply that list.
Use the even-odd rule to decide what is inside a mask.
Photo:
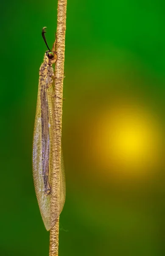
[{"label": "translucent veined wing on the insect's left edge, farthest from the stem", "polygon": [[[43,96],[45,90],[44,81],[39,78],[39,89],[38,89],[38,97],[37,97],[37,106],[36,106],[36,117],[34,124],[34,139],[33,139],[33,177],[34,177],[34,187],[36,191],[36,197],[39,204],[39,209],[42,215],[42,219],[44,221],[45,227],[47,230],[50,229],[50,195],[45,195],[45,184],[44,184],[44,175],[43,169],[44,166],[47,165],[48,159],[44,163],[44,158],[48,153],[48,149],[45,148],[45,142],[43,142],[43,135],[45,135],[45,139],[50,140],[48,135],[48,129],[45,131],[44,126],[45,118],[43,118],[45,105],[43,105],[43,101],[46,98]],[[45,110],[46,111],[46,110]],[[47,126],[48,127],[48,126]],[[44,145],[43,145],[44,144]],[[48,145],[48,142],[47,142]],[[47,151],[47,152],[46,152]],[[49,156],[47,156],[48,158]]]}]

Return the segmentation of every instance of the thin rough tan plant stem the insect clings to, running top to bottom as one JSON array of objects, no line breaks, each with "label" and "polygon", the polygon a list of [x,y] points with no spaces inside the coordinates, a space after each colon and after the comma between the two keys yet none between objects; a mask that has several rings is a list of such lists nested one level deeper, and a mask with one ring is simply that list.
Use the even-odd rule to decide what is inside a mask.
[{"label": "thin rough tan plant stem the insect clings to, running top to bottom", "polygon": [[[56,211],[56,203],[59,204],[59,193],[55,192],[59,188],[59,172],[60,160],[58,152],[61,152],[61,134],[62,134],[62,103],[63,103],[63,80],[64,80],[64,51],[65,51],[65,31],[66,31],[66,12],[67,0],[58,0],[57,13],[57,33],[56,33],[56,52],[57,61],[55,67],[55,129],[56,137],[54,136],[54,159],[53,159],[53,184],[52,184],[52,209]],[[61,158],[61,156],[60,156]],[[56,163],[56,164],[55,164]],[[54,188],[54,189],[53,189]],[[54,190],[54,193],[53,193]],[[49,256],[58,256],[59,250],[59,218],[55,225],[50,230],[50,248]]]}]

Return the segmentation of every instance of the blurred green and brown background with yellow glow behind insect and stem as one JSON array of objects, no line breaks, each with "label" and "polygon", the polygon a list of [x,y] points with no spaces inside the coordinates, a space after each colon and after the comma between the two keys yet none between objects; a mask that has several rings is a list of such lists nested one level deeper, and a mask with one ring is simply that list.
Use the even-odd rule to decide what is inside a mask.
[{"label": "blurred green and brown background with yellow glow behind insect and stem", "polygon": [[[0,9],[0,255],[46,256],[31,154],[57,0]],[[68,0],[65,76],[59,256],[164,256],[164,1]]]}]

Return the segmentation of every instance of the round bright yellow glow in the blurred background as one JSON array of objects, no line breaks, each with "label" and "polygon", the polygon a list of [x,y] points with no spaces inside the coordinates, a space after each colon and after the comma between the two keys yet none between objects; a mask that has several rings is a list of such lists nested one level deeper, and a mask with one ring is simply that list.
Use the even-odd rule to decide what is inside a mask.
[{"label": "round bright yellow glow in the blurred background", "polygon": [[113,108],[98,119],[94,144],[99,165],[120,172],[144,172],[159,164],[159,125],[151,113],[137,106]]}]

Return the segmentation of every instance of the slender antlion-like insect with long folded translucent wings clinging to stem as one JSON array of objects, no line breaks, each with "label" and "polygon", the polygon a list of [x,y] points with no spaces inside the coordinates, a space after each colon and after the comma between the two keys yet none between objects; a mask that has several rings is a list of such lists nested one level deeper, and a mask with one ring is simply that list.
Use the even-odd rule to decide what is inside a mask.
[{"label": "slender antlion-like insect with long folded translucent wings clinging to stem", "polygon": [[[46,46],[48,47],[45,38],[45,29],[46,27],[42,29],[42,37]],[[56,207],[58,210],[52,213],[51,178],[53,173],[53,150],[55,147],[54,137],[56,140],[54,118],[56,105],[52,86],[55,75],[52,64],[57,60],[55,47],[56,41],[53,44],[52,51],[48,47],[48,50],[44,55],[43,63],[39,69],[39,87],[34,124],[32,155],[34,187],[42,219],[47,230],[50,230],[53,227],[56,218],[59,217],[59,214],[62,211],[65,201],[64,161],[61,152],[61,169],[59,175],[59,206]]]}]

